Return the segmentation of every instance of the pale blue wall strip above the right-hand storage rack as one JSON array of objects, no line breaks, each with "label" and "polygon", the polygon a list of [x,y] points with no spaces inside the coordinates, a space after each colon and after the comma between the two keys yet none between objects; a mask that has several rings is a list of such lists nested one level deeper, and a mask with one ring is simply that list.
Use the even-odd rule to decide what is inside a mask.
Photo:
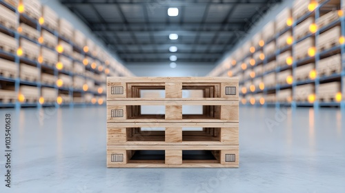
[{"label": "pale blue wall strip above the right-hand storage rack", "polygon": [[[270,2],[273,2],[275,0],[270,0]],[[292,7],[293,6],[293,1],[292,0],[282,0],[282,3],[277,4],[276,6],[272,6],[270,8],[270,10],[268,10],[268,12],[266,12],[266,14],[264,15],[264,17],[262,17],[262,14],[260,14],[260,10],[257,10],[257,15],[255,17],[253,17],[253,21],[249,21],[249,25],[253,25],[251,26],[251,29],[244,34],[244,38],[239,41],[232,50],[229,50],[229,52],[227,52],[226,54],[224,54],[224,57],[221,57],[221,59],[219,59],[219,61],[217,61],[216,66],[221,64],[222,61],[224,61],[224,59],[226,59],[227,57],[230,56],[230,54],[232,54],[235,50],[237,50],[237,48],[242,47],[242,45],[244,45],[244,43],[246,43],[246,41],[252,39],[252,37],[257,33],[260,32],[262,30],[262,28],[264,28],[264,26],[272,21],[273,18],[275,18],[277,16],[277,14],[279,14],[279,12],[281,12],[282,10],[284,10],[284,8],[287,7]],[[243,34],[241,34],[243,35]]]}]

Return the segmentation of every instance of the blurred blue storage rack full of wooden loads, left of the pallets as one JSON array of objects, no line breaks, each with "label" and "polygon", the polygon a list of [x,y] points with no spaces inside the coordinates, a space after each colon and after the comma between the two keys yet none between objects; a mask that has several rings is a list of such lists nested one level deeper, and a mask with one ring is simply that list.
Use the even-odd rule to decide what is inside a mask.
[{"label": "blurred blue storage rack full of wooden loads, left of the pallets", "polygon": [[[15,41],[17,42],[16,49],[12,50],[10,52],[8,49],[1,49],[0,48],[0,59],[3,59],[3,61],[14,61],[15,65],[17,66],[17,72],[13,76],[6,76],[6,74],[3,74],[3,72],[0,73],[0,92],[8,92],[9,90],[3,90],[4,88],[10,88],[10,90],[14,91],[15,94],[10,94],[10,96],[5,96],[5,94],[1,94],[1,101],[0,101],[0,108],[21,108],[21,107],[44,107],[44,106],[55,106],[58,107],[59,105],[68,105],[70,107],[74,105],[105,105],[106,103],[106,76],[132,76],[132,74],[124,68],[123,65],[118,63],[116,59],[113,59],[110,54],[106,53],[105,50],[102,50],[99,48],[98,45],[93,43],[92,41],[90,43],[95,44],[93,48],[95,50],[86,50],[87,52],[84,52],[83,48],[80,48],[79,45],[77,45],[74,41],[71,41],[71,39],[67,39],[62,34],[59,34],[59,32],[55,29],[48,27],[48,23],[43,23],[43,25],[40,24],[39,19],[32,17],[33,15],[26,12],[19,13],[18,6],[22,4],[23,1],[16,1],[16,0],[0,0],[0,6],[3,6],[3,8],[7,8],[8,10],[11,10],[15,13],[16,20],[18,23],[24,23],[27,26],[32,27],[33,29],[36,29],[39,34],[41,34],[42,30],[46,30],[53,34],[55,38],[57,38],[58,41],[64,42],[68,47],[72,48],[72,52],[78,52],[82,59],[89,59],[94,61],[93,63],[81,60],[81,58],[74,57],[72,53],[65,53],[65,52],[58,52],[57,48],[51,48],[51,46],[48,46],[44,43],[40,43],[39,39],[35,39],[32,34],[30,33],[21,33],[19,32],[19,28],[16,29],[19,26],[9,26],[8,23],[6,24],[6,21],[0,23],[0,34],[6,34],[10,37],[14,37]],[[34,3],[39,3],[39,1],[32,1]],[[30,3],[30,2],[28,2]],[[26,8],[29,9],[29,8]],[[41,12],[41,10],[39,10]],[[5,14],[5,13],[3,13]],[[43,17],[42,17],[43,18]],[[40,18],[41,19],[41,18]],[[23,30],[23,29],[21,29]],[[74,30],[74,32],[76,32]],[[70,60],[71,64],[69,68],[65,65],[63,69],[58,70],[57,66],[55,66],[55,63],[48,64],[46,61],[41,61],[41,59],[35,58],[32,56],[32,54],[19,54],[19,48],[21,48],[20,41],[21,39],[24,39],[25,41],[28,41],[30,43],[33,43],[33,45],[39,46],[39,52],[41,52],[41,48],[46,48],[50,50],[51,52],[54,52],[59,57],[65,57],[65,59]],[[88,40],[90,41],[90,40]],[[57,43],[58,45],[59,43]],[[85,41],[85,45],[88,45],[88,42]],[[37,51],[37,50],[36,50]],[[98,51],[98,52],[97,52]],[[16,53],[17,52],[17,53]],[[73,56],[72,56],[73,55]],[[42,57],[42,55],[40,55]],[[60,61],[60,59],[59,59]],[[5,67],[7,65],[6,63],[0,63],[1,65]],[[23,68],[24,65],[28,65],[28,68],[31,70],[34,70],[36,72],[39,72],[37,74],[37,77],[31,77],[27,76],[28,79],[23,79],[19,75],[21,72],[21,68]],[[73,68],[74,65],[81,65],[85,73],[75,73]],[[34,68],[32,68],[34,67]],[[65,68],[66,67],[66,68]],[[36,69],[35,69],[36,68]],[[0,69],[1,70],[1,69]],[[23,70],[24,71],[24,70]],[[23,71],[21,73],[23,73]],[[107,72],[106,72],[107,71]],[[48,72],[48,74],[51,74],[55,80],[54,83],[46,83],[41,81],[41,75],[43,72]],[[56,80],[59,79],[59,75],[64,76],[66,75],[68,79],[70,79],[70,85],[62,85],[58,86],[57,83],[55,83]],[[65,77],[66,77],[65,76]],[[76,79],[83,80],[83,85],[88,85],[87,89],[83,89],[82,87],[77,87],[74,85]],[[87,81],[90,81],[90,85],[87,83]],[[31,87],[30,87],[31,86]],[[23,96],[21,93],[21,90],[25,90],[26,88],[29,88],[29,90],[26,90],[30,94],[33,94],[34,99],[30,96]],[[33,89],[35,88],[35,90]],[[52,100],[44,100],[42,97],[42,88],[52,88],[55,91],[57,99],[54,101]],[[12,93],[11,91],[11,93]],[[37,92],[36,92],[37,91]],[[31,93],[35,92],[35,93]],[[86,96],[88,95],[88,97]],[[25,97],[24,101],[20,101],[21,97]],[[58,99],[59,98],[59,99]],[[88,98],[88,99],[87,99]],[[61,100],[62,99],[62,100]],[[44,100],[44,102],[43,102]]]}]

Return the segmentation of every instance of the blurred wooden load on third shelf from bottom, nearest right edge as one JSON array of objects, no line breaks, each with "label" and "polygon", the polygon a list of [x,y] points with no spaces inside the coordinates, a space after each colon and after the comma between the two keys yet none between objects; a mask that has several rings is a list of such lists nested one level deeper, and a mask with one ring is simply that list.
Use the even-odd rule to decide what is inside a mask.
[{"label": "blurred wooden load on third shelf from bottom, nearest right edge", "polygon": [[317,50],[322,52],[339,45],[339,38],[342,36],[340,26],[335,26],[319,35],[317,40]]}]

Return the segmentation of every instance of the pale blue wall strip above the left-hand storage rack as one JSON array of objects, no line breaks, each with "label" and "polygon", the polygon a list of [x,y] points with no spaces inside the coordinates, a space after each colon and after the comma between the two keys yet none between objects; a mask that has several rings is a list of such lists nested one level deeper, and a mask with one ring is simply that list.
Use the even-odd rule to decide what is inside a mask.
[{"label": "pale blue wall strip above the left-hand storage rack", "polygon": [[[91,32],[90,28],[88,28],[88,26],[86,26],[86,24],[83,23],[83,21],[81,21],[74,13],[72,13],[68,8],[66,8],[66,6],[63,6],[59,0],[40,0],[40,1],[42,4],[52,8],[52,10],[55,10],[55,12],[59,15],[59,17],[68,20],[75,29],[83,32],[86,38],[92,39],[95,43],[97,43],[97,45],[106,49],[106,45],[103,44],[103,41],[97,38],[95,34]],[[111,53],[109,52],[109,54]],[[124,62],[121,61],[121,59],[119,59],[119,57],[117,57],[115,54],[111,54],[111,55],[112,57],[117,59],[119,63],[124,64]]]}]

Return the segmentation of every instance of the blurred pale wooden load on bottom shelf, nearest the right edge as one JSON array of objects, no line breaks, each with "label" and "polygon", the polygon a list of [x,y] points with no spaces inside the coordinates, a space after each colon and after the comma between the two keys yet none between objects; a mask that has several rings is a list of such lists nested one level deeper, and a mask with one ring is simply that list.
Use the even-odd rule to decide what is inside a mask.
[{"label": "blurred pale wooden load on bottom shelf, nearest the right edge", "polygon": [[340,82],[322,83],[317,90],[317,100],[320,102],[335,101],[335,96],[338,92],[341,92]]}]

